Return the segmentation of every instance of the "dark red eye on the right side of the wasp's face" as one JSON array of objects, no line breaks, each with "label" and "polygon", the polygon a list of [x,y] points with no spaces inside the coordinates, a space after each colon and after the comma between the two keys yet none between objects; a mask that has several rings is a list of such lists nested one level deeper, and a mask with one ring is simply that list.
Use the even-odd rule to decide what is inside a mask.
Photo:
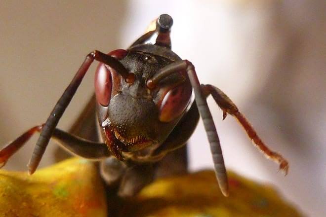
[{"label": "dark red eye on the right side of the wasp's face", "polygon": [[189,104],[191,92],[192,87],[188,82],[169,90],[161,104],[160,121],[170,122],[179,117]]}]

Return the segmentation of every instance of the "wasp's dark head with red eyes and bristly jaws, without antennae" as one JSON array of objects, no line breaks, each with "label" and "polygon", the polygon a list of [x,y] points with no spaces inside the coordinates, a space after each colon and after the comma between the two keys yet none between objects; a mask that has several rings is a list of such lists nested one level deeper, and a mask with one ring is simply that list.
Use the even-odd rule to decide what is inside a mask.
[{"label": "wasp's dark head with red eyes and bristly jaws, without antennae", "polygon": [[192,88],[183,72],[164,78],[155,89],[147,88],[146,81],[174,60],[139,50],[116,50],[110,55],[134,74],[132,82],[126,81],[104,64],[95,74],[102,135],[122,158],[121,152],[162,144],[188,106]]}]

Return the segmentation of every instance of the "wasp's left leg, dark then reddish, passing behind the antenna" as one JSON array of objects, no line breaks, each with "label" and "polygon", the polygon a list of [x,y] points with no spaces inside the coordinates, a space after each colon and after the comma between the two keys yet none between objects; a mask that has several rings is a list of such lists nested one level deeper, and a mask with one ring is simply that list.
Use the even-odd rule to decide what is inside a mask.
[{"label": "wasp's left leg, dark then reddish, passing behind the antenna", "polygon": [[[44,125],[32,127],[19,136],[16,140],[8,145],[5,145],[5,147],[0,150],[1,167],[4,166],[7,160],[23,145],[25,145],[36,132],[41,132],[43,126]],[[97,160],[110,156],[110,152],[106,144],[84,140],[57,128],[54,130],[51,138],[69,152],[84,158]]]}]

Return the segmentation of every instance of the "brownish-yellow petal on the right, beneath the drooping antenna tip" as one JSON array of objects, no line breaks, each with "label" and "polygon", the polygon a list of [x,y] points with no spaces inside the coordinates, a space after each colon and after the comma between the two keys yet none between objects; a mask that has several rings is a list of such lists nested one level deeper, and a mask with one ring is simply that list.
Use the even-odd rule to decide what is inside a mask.
[{"label": "brownish-yellow petal on the right, beneath the drooping antenna tip", "polygon": [[224,197],[213,171],[162,179],[120,207],[118,217],[298,217],[271,187],[229,173]]}]

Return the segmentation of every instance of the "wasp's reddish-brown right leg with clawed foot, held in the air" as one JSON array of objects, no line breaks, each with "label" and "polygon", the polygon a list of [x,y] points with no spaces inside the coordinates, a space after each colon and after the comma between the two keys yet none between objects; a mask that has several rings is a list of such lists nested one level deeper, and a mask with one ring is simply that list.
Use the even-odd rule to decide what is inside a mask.
[{"label": "wasp's reddish-brown right leg with clawed foot, held in the air", "polygon": [[263,141],[259,138],[256,131],[253,129],[248,120],[244,115],[239,111],[237,106],[230,100],[230,98],[223,93],[217,87],[214,87],[210,84],[202,85],[203,92],[206,96],[209,94],[213,97],[217,105],[223,110],[223,120],[230,114],[234,116],[239,123],[244,128],[250,140],[253,141],[254,145],[262,152],[267,158],[270,158],[277,162],[280,165],[280,169],[285,172],[285,175],[288,171],[288,162],[283,158],[283,156],[277,152],[270,150]]}]

